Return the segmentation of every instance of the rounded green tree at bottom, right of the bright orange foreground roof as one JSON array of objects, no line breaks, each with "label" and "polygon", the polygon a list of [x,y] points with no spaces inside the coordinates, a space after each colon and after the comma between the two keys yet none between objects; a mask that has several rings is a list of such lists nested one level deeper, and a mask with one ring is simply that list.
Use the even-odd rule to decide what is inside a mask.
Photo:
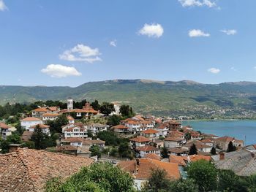
[{"label": "rounded green tree at bottom, right of the bright orange foreground roof", "polygon": [[208,161],[189,164],[187,174],[189,179],[195,180],[199,191],[214,191],[217,188],[217,169]]}]

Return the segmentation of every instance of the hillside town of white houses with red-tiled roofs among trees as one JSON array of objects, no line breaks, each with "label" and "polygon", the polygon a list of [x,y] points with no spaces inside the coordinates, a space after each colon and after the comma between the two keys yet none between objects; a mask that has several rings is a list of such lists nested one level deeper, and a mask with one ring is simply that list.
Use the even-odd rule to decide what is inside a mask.
[{"label": "hillside town of white houses with red-tiled roofs among trees", "polygon": [[[154,177],[179,183],[184,191],[255,189],[255,183],[230,188],[230,180],[218,180],[227,175],[236,183],[255,178],[256,145],[195,131],[182,124],[182,117],[140,115],[118,102],[70,98],[39,101],[30,111],[20,104],[5,107],[12,112],[6,110],[0,122],[0,191],[44,191],[49,180],[69,180],[83,166],[120,169],[122,177],[132,178],[131,191],[168,191],[166,186],[156,189]],[[204,166],[212,169],[211,178],[200,178]]]}]

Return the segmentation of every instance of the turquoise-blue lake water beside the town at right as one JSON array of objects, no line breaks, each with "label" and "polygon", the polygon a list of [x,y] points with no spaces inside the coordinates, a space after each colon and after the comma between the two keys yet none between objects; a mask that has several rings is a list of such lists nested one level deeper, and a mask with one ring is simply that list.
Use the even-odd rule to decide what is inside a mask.
[{"label": "turquoise-blue lake water beside the town at right", "polygon": [[256,144],[256,120],[184,120],[182,126],[192,126],[195,131],[230,136],[245,141],[245,145]]}]

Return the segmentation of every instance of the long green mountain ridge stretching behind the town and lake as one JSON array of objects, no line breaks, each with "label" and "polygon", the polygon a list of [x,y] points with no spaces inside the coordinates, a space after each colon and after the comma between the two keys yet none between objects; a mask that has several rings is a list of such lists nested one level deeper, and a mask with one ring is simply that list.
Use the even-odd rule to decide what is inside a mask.
[{"label": "long green mountain ridge stretching behind the town and lake", "polygon": [[0,86],[0,104],[37,100],[119,101],[136,112],[157,115],[226,116],[256,115],[256,82],[216,85],[184,81],[106,80],[70,87]]}]

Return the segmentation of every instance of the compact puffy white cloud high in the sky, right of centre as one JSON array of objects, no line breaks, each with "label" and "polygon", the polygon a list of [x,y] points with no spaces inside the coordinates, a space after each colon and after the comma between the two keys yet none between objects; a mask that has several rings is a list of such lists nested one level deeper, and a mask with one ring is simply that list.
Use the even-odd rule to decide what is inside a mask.
[{"label": "compact puffy white cloud high in the sky, right of centre", "polygon": [[140,29],[139,34],[147,35],[148,37],[159,38],[164,33],[164,28],[160,24],[145,24],[143,28]]}]

